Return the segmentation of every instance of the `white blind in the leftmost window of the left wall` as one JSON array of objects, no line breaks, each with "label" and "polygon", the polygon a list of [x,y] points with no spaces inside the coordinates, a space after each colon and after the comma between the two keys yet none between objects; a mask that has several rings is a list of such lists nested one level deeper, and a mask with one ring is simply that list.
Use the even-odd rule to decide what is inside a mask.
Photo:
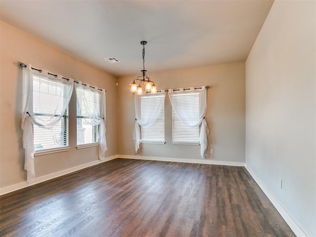
[{"label": "white blind in the leftmost window of the left wall", "polygon": [[[62,118],[50,128],[33,126],[35,151],[68,147],[68,108],[64,115],[52,108],[62,108],[67,96],[63,83],[33,76],[33,114],[38,121],[49,121],[52,117]],[[52,106],[56,104],[57,106]]]}]

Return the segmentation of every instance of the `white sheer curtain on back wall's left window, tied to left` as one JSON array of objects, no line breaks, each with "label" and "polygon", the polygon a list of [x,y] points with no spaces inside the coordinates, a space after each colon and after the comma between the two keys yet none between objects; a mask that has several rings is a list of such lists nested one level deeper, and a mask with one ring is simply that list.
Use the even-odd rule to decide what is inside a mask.
[{"label": "white sheer curtain on back wall's left window, tied to left", "polygon": [[[134,126],[133,140],[134,140],[136,154],[139,149],[139,145],[142,143],[139,126],[149,127],[155,122],[155,120],[157,119],[160,113],[161,108],[164,105],[165,96],[166,96],[166,92],[164,91],[157,92],[157,94],[143,94],[143,95],[135,94],[134,95],[136,121],[135,121],[135,126]],[[141,109],[142,97],[148,97],[148,98],[154,97],[155,102],[156,102],[156,103],[153,103],[152,106],[148,108],[148,110],[146,110],[146,114],[142,114],[142,109]]]}]

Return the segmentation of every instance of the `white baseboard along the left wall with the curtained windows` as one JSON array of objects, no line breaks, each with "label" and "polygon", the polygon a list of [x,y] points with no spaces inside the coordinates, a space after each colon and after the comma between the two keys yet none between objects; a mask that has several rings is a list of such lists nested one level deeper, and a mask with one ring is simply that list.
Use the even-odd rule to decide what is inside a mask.
[{"label": "white baseboard along the left wall with the curtained windows", "polygon": [[47,181],[49,179],[57,178],[59,176],[62,176],[62,175],[65,175],[65,174],[69,174],[69,173],[78,171],[80,169],[84,169],[84,168],[87,168],[89,166],[93,166],[93,165],[96,165],[96,164],[99,164],[99,163],[102,163],[102,162],[106,162],[106,161],[109,161],[109,160],[115,159],[115,158],[118,158],[118,156],[115,155],[115,156],[111,156],[111,157],[106,157],[103,160],[95,160],[95,161],[92,161],[92,162],[89,162],[89,163],[85,163],[85,164],[81,164],[81,165],[78,165],[78,166],[75,166],[75,167],[71,167],[69,169],[64,169],[64,170],[61,170],[61,171],[58,171],[58,172],[55,172],[55,173],[51,173],[51,174],[47,174],[47,175],[44,175],[44,176],[40,176],[38,178],[35,178],[34,181],[31,184],[29,184],[27,181],[24,181],[24,182],[21,182],[21,183],[18,183],[18,184],[7,186],[7,187],[4,187],[4,188],[0,189],[0,195],[11,193],[13,191],[16,191],[16,190],[19,190],[19,189],[23,189],[23,188],[26,188],[26,187],[29,187],[29,186],[32,186],[32,185],[35,185],[35,184]]}]

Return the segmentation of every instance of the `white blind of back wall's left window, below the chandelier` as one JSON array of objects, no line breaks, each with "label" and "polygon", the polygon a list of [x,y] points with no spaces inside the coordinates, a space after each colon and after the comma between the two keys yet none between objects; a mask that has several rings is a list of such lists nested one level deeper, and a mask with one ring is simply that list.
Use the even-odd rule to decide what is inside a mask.
[{"label": "white blind of back wall's left window, below the chandelier", "polygon": [[[158,107],[164,95],[141,97],[141,116],[148,120],[152,107]],[[164,104],[155,122],[149,127],[142,126],[142,142],[162,142],[164,143]]]}]

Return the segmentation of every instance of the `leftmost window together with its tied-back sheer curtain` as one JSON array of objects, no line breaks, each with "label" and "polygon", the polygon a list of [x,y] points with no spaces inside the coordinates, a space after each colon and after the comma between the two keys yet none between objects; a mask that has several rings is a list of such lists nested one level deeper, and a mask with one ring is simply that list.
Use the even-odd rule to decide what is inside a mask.
[{"label": "leftmost window together with its tied-back sheer curtain", "polygon": [[[35,178],[34,156],[68,151],[68,105],[74,80],[20,64],[23,148],[28,182]],[[34,153],[35,152],[35,153]]]}]

